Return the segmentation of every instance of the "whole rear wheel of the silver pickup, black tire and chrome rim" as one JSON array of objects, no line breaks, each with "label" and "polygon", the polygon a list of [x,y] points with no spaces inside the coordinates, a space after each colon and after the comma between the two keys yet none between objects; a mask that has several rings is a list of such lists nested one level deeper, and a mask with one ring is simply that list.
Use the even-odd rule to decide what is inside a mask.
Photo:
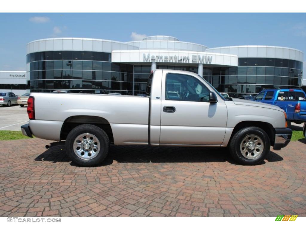
[{"label": "whole rear wheel of the silver pickup, black tire and chrome rim", "polygon": [[93,166],[106,158],[110,140],[100,127],[85,124],[73,128],[65,144],[67,154],[74,163],[81,166]]}]

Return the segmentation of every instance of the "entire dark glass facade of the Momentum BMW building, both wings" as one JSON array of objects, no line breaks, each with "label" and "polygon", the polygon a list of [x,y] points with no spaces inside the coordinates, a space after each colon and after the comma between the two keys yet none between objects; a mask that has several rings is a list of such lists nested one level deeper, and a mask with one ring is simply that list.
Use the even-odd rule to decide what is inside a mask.
[{"label": "entire dark glass facade of the Momentum BMW building, both wings", "polygon": [[[111,62],[111,53],[48,51],[27,55],[32,92],[69,89],[78,93],[144,94],[151,64]],[[197,66],[157,65],[158,69],[198,72]],[[265,88],[301,87],[303,63],[278,58],[238,58],[238,67],[203,67],[203,78],[219,92],[236,97]]]}]

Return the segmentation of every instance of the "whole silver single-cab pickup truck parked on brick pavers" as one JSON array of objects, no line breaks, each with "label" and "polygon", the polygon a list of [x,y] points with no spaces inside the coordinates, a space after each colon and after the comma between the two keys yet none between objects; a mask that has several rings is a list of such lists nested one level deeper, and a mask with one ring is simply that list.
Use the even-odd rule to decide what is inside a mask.
[{"label": "whole silver single-cab pickup truck parked on brick pavers", "polygon": [[155,70],[146,95],[31,93],[21,130],[66,140],[71,160],[88,166],[106,158],[109,144],[228,147],[237,162],[255,165],[291,139],[282,109],[224,98],[191,72]]}]

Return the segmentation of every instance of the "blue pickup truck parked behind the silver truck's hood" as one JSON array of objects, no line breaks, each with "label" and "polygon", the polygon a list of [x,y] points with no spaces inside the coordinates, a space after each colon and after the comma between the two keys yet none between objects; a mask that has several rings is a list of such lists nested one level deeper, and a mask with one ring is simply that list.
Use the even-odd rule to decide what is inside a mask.
[{"label": "blue pickup truck parked behind the silver truck's hood", "polygon": [[306,122],[306,94],[302,89],[265,89],[257,94],[255,101],[282,108],[288,124]]}]

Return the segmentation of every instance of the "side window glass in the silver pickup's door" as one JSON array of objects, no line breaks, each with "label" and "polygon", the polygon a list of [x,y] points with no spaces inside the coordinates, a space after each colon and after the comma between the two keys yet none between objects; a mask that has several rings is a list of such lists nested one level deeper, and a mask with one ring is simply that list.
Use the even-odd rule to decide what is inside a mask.
[{"label": "side window glass in the silver pickup's door", "polygon": [[202,82],[190,75],[166,75],[166,100],[209,102],[209,93]]}]

